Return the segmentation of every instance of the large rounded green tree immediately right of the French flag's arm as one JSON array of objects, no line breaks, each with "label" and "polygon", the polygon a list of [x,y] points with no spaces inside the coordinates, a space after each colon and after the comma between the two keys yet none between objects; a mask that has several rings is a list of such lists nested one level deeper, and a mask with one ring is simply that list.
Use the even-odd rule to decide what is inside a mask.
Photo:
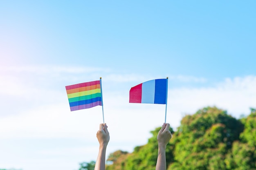
[{"label": "large rounded green tree immediately right of the French flag's arm", "polygon": [[175,162],[168,169],[226,170],[225,155],[242,131],[239,120],[216,107],[185,116],[173,140]]}]

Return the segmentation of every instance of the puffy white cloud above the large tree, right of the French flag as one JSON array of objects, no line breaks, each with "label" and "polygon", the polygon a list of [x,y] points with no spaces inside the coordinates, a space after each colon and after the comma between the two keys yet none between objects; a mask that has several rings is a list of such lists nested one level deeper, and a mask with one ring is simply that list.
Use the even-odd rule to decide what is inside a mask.
[{"label": "puffy white cloud above the large tree, right of the French flag", "polygon": [[204,106],[217,106],[235,117],[248,114],[256,107],[256,76],[227,78],[215,87],[175,88],[169,92],[168,101],[185,113],[195,113]]}]

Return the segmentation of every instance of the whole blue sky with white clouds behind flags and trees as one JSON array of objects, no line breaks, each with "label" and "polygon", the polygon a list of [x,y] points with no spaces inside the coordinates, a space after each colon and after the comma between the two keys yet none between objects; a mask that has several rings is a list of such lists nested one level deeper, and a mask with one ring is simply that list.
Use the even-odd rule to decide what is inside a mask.
[{"label": "whole blue sky with white clouds behind flags and trees", "polygon": [[109,153],[132,152],[165,105],[132,86],[168,79],[166,121],[256,108],[256,2],[0,1],[0,168],[76,170],[97,159],[101,107],[70,112],[65,86],[102,77]]}]

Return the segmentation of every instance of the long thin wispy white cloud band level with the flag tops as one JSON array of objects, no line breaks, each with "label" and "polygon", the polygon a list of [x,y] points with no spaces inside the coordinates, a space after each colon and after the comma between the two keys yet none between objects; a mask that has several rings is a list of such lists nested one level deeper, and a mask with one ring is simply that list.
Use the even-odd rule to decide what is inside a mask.
[{"label": "long thin wispy white cloud band level with the flag tops", "polygon": [[[2,75],[2,76],[1,76]],[[138,75],[129,73],[112,73],[109,68],[97,68],[97,67],[73,67],[73,66],[54,66],[54,65],[38,65],[38,66],[2,66],[0,67],[0,78],[1,82],[7,82],[9,79],[55,79],[69,80],[70,82],[79,81],[86,76],[88,81],[93,81],[96,78],[103,77],[106,82],[146,82],[156,78],[166,77],[155,77],[152,75]],[[185,76],[185,75],[171,75],[168,77],[172,81],[178,82],[206,82],[207,79]],[[14,82],[10,82],[14,83]]]}]

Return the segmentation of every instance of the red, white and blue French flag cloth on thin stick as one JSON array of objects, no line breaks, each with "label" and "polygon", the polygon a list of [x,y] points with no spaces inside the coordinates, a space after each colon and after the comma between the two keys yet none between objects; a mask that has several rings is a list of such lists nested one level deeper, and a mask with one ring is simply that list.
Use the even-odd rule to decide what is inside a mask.
[{"label": "red, white and blue French flag cloth on thin stick", "polygon": [[130,89],[129,103],[167,103],[167,79],[153,79]]}]

